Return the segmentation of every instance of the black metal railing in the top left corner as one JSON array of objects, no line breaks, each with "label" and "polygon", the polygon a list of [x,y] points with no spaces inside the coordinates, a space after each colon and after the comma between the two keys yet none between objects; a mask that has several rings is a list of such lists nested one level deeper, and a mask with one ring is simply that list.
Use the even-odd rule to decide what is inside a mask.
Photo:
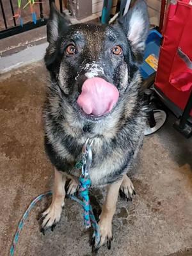
[{"label": "black metal railing in the top left corner", "polygon": [[44,26],[51,2],[63,12],[62,0],[0,0],[0,39]]}]

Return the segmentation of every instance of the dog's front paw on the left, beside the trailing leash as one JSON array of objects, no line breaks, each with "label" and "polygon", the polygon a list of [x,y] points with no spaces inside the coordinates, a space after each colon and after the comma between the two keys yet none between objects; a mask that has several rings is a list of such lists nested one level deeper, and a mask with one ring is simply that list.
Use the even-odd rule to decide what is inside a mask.
[{"label": "dog's front paw on the left, beside the trailing leash", "polygon": [[40,231],[44,235],[47,228],[51,228],[52,231],[54,230],[56,224],[60,221],[61,211],[61,206],[51,204],[49,208],[41,214],[40,219],[42,220],[42,225]]}]

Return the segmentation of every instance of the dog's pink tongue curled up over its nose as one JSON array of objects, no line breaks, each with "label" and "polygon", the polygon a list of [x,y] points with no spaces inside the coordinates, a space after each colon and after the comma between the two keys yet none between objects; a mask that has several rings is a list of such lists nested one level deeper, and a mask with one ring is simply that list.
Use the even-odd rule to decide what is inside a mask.
[{"label": "dog's pink tongue curled up over its nose", "polygon": [[83,83],[77,104],[88,115],[102,116],[111,111],[118,97],[115,85],[100,77],[92,77]]}]

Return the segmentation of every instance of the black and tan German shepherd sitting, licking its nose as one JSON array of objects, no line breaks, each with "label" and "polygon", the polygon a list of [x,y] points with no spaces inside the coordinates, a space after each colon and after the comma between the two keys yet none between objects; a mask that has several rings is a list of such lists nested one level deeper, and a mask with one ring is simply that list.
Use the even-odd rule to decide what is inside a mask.
[{"label": "black and tan German shepherd sitting, licking its nose", "polygon": [[[42,214],[42,232],[61,218],[66,194],[78,189],[74,165],[93,141],[92,186],[107,186],[100,214],[100,242],[112,240],[118,192],[134,195],[127,176],[143,142],[145,104],[139,65],[148,35],[147,5],[138,0],[108,26],[70,24],[51,6],[45,65],[51,75],[44,108],[45,150],[54,166],[52,202]],[[66,188],[66,182],[68,188]]]}]

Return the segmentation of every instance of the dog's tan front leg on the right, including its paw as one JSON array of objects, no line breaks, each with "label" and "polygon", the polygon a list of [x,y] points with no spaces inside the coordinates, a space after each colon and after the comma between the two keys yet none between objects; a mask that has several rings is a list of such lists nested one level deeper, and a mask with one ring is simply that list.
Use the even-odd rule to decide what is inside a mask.
[{"label": "dog's tan front leg on the right, including its paw", "polygon": [[122,184],[122,179],[108,186],[106,200],[102,205],[102,212],[100,214],[99,228],[100,228],[100,242],[95,244],[95,250],[107,243],[108,249],[111,248],[112,236],[112,220],[116,211],[116,202],[118,198],[118,191]]}]

